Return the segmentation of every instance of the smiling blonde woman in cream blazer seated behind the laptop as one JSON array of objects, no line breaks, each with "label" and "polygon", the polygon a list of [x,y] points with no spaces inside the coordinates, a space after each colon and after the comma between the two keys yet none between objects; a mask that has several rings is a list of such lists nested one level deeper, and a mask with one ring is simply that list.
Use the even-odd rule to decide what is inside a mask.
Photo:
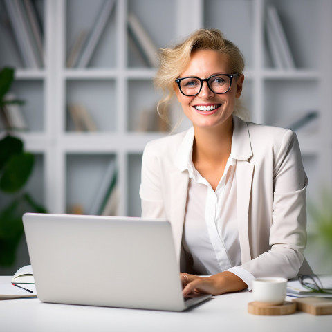
[{"label": "smiling blonde woman in cream blazer seated behind the laptop", "polygon": [[[160,53],[156,86],[176,95],[192,128],[149,142],[142,216],[172,224],[183,294],[251,288],[295,277],[306,247],[306,186],[293,131],[241,120],[243,57],[201,29]],[[210,277],[199,277],[210,275]]]}]

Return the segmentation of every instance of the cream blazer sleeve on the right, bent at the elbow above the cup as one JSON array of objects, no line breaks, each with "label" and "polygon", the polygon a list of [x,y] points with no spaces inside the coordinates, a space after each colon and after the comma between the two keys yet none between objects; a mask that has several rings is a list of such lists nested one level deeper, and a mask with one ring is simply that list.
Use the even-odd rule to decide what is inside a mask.
[{"label": "cream blazer sleeve on the right, bent at the elbow above the cup", "polygon": [[[297,136],[293,131],[286,131],[274,158],[272,218],[265,221],[270,223],[270,250],[244,262],[241,268],[255,277],[273,275],[291,279],[297,275],[304,261],[308,185]],[[251,222],[255,223],[254,220]],[[250,243],[254,247],[256,244]]]}]

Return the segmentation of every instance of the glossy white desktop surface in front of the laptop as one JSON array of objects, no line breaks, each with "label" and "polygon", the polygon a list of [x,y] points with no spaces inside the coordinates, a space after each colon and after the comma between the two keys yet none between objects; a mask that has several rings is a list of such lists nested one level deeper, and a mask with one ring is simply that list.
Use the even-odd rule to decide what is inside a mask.
[{"label": "glossy white desktop surface in front of the laptop", "polygon": [[[0,283],[10,277],[0,277]],[[1,332],[331,332],[332,315],[297,312],[259,316],[247,312],[252,294],[241,292],[212,297],[190,311],[173,313],[122,308],[48,304],[39,299],[0,300]]]}]

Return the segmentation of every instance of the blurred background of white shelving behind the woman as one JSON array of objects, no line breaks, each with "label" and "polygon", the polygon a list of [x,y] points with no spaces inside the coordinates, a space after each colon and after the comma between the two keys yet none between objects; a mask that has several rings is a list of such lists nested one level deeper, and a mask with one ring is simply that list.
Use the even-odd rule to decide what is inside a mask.
[{"label": "blurred background of white shelving behind the woman", "polygon": [[[250,120],[297,133],[305,254],[315,273],[332,273],[331,17],[330,0],[0,0],[0,68],[15,70],[1,98],[24,102],[1,107],[0,138],[34,157],[19,190],[0,187],[0,275],[30,263],[26,211],[140,216],[142,151],[181,119],[176,104],[170,124],[156,114],[156,53],[202,27],[241,49]],[[8,210],[26,193],[35,205]]]}]

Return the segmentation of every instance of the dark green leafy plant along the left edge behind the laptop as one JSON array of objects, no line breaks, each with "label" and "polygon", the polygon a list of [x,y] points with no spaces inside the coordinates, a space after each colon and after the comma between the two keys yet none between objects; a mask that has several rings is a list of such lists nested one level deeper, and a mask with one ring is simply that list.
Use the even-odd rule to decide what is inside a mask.
[{"label": "dark green leafy plant along the left edge behind the laptop", "polygon": [[[0,71],[0,111],[4,113],[9,103],[22,104],[21,100],[6,100],[6,93],[14,81],[13,68],[2,68]],[[11,266],[15,262],[16,250],[24,228],[24,212],[45,213],[46,210],[37,204],[32,196],[25,192],[24,186],[33,171],[35,158],[24,151],[24,142],[6,126],[0,140],[0,191],[6,197],[5,206],[0,208],[0,266]]]}]

